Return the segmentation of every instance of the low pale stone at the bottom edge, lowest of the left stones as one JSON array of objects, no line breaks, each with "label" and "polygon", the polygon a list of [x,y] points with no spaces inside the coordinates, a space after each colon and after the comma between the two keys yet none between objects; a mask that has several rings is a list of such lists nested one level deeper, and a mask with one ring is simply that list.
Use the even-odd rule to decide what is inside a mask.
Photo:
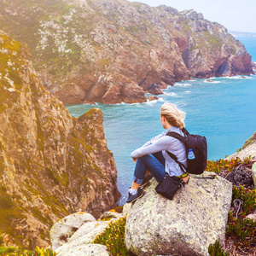
[{"label": "low pale stone at the bottom edge, lowest of the left stones", "polygon": [[58,253],[58,256],[109,256],[108,249],[102,244],[83,244],[70,247],[67,252]]}]

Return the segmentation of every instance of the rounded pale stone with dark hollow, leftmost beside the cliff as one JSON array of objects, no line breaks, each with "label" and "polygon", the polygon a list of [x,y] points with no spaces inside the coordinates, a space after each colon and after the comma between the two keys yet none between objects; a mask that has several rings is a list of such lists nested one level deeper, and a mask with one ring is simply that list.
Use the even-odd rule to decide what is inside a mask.
[{"label": "rounded pale stone with dark hollow, leftmost beside the cliff", "polygon": [[76,212],[65,218],[61,218],[49,231],[52,249],[55,250],[67,243],[69,238],[73,236],[83,224],[92,221],[96,221],[96,218],[87,212]]}]

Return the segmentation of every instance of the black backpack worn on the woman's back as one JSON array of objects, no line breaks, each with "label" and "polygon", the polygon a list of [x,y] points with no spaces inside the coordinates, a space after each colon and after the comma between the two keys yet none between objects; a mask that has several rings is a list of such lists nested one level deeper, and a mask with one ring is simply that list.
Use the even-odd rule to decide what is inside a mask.
[{"label": "black backpack worn on the woman's back", "polygon": [[[205,168],[207,166],[207,138],[200,135],[190,134],[189,131],[187,131],[185,128],[183,128],[182,131],[185,135],[184,137],[175,131],[170,131],[166,135],[175,137],[185,144],[188,167],[186,168],[185,166],[183,166],[182,163],[178,162],[175,154],[172,154],[168,151],[167,153],[172,157],[173,160],[175,160],[179,164],[180,168],[184,172],[201,174],[205,171]],[[195,154],[195,159],[193,160],[190,160],[188,158],[190,148]]]}]

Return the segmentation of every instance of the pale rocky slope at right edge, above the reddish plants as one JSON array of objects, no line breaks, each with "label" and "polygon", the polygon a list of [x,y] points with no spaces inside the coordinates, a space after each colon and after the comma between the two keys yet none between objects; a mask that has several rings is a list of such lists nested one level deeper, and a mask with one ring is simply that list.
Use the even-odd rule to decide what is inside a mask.
[{"label": "pale rocky slope at right edge, above the reddish plants", "polygon": [[224,160],[231,160],[231,159],[236,159],[236,158],[244,160],[245,158],[248,158],[249,156],[251,156],[252,160],[256,161],[256,132],[253,133],[252,137],[247,139],[247,141],[242,146],[241,151],[231,154]]}]

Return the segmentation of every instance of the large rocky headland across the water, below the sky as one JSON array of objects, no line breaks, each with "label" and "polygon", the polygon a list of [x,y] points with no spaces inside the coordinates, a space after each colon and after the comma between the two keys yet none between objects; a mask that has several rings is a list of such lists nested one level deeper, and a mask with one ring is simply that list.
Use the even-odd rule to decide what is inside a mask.
[{"label": "large rocky headland across the water, below the sky", "polygon": [[182,79],[253,73],[224,26],[193,10],[125,0],[1,1],[0,25],[32,48],[62,102],[145,102]]}]

